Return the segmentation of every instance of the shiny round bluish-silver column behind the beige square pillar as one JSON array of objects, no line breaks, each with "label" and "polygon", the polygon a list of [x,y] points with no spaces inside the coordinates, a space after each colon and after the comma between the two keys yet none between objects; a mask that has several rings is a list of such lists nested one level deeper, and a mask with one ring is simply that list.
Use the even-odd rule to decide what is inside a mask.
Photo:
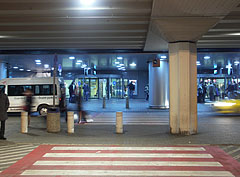
[{"label": "shiny round bluish-silver column behind the beige square pillar", "polygon": [[160,67],[149,63],[149,107],[169,108],[169,65],[161,60]]}]

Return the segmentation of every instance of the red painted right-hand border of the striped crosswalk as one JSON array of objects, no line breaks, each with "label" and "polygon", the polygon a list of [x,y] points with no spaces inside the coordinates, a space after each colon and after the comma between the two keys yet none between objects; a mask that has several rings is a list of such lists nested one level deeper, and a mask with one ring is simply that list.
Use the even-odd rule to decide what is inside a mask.
[{"label": "red painted right-hand border of the striped crosswalk", "polygon": [[227,171],[236,177],[240,177],[240,163],[216,146],[206,146],[206,150],[220,162]]}]

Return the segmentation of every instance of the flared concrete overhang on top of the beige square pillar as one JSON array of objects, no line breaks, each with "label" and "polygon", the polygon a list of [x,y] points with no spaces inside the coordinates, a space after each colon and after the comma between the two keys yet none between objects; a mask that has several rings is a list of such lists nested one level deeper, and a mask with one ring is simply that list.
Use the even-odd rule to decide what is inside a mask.
[{"label": "flared concrete overhang on top of the beige square pillar", "polygon": [[239,3],[239,0],[154,0],[145,51],[167,50],[167,42],[197,42]]}]

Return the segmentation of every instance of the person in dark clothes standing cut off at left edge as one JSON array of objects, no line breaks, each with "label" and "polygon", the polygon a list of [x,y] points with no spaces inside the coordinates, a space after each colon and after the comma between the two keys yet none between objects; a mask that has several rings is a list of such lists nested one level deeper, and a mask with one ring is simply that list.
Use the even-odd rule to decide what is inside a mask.
[{"label": "person in dark clothes standing cut off at left edge", "polygon": [[0,139],[6,140],[4,137],[5,134],[5,122],[8,119],[7,110],[9,108],[9,100],[6,94],[3,93],[3,90],[0,89],[0,121],[1,121],[1,131]]}]

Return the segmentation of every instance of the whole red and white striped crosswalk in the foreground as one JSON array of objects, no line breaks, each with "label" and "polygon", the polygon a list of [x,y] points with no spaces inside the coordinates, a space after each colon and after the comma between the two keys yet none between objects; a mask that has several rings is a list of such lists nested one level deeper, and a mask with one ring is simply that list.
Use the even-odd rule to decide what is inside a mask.
[{"label": "whole red and white striped crosswalk in the foreground", "polygon": [[240,176],[240,164],[212,146],[41,145],[0,177]]}]

